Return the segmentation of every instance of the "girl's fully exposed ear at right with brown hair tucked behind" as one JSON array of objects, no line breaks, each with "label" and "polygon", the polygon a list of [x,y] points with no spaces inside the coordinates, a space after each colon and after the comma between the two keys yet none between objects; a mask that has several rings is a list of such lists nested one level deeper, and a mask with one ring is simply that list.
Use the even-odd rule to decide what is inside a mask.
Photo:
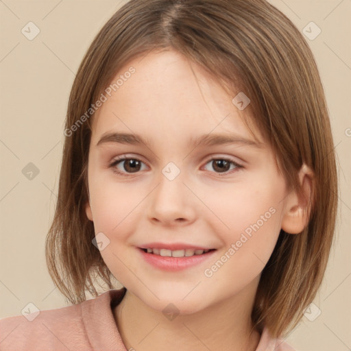
[{"label": "girl's fully exposed ear at right with brown hair tucked behind", "polygon": [[302,195],[291,191],[285,201],[285,210],[282,217],[282,230],[289,234],[299,234],[308,225],[310,205],[313,202],[313,171],[302,165],[299,171]]}]

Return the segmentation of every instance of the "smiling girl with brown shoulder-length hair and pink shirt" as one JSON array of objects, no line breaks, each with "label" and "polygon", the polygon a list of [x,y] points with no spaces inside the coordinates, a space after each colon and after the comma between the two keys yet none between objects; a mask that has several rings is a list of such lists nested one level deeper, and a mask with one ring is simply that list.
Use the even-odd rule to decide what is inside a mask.
[{"label": "smiling girl with brown shoulder-length hair and pink shirt", "polygon": [[46,253],[73,305],[2,319],[0,350],[293,350],[337,171],[315,60],[284,14],[129,1],[80,65],[64,134]]}]

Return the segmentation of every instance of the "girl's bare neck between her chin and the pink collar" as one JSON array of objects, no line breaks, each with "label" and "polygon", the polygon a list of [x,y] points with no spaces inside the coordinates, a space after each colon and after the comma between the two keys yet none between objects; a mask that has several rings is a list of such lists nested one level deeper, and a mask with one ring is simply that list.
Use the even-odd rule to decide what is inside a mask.
[{"label": "girl's bare neck between her chin and the pink collar", "polygon": [[227,300],[173,319],[127,291],[114,319],[127,350],[255,351],[261,337],[251,321],[257,284],[254,280]]}]

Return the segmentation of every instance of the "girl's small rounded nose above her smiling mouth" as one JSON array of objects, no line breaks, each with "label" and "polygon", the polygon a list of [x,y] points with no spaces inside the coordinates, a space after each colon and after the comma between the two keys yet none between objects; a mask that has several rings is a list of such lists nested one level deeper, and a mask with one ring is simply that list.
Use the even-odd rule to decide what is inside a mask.
[{"label": "girl's small rounded nose above her smiling mouth", "polygon": [[151,221],[165,226],[188,225],[195,220],[195,196],[184,184],[182,172],[170,180],[163,173],[158,177],[156,189],[149,195],[147,215]]}]

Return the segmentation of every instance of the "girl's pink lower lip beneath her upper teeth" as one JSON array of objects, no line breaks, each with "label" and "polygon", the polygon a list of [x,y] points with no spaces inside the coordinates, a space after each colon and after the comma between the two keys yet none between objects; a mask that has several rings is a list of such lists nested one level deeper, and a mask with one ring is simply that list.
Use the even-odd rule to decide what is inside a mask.
[{"label": "girl's pink lower lip beneath her upper teeth", "polygon": [[212,257],[216,250],[206,252],[206,254],[193,255],[190,257],[164,257],[155,254],[149,254],[140,248],[138,250],[147,263],[165,271],[180,271],[182,269],[190,268],[199,265],[208,258]]}]

